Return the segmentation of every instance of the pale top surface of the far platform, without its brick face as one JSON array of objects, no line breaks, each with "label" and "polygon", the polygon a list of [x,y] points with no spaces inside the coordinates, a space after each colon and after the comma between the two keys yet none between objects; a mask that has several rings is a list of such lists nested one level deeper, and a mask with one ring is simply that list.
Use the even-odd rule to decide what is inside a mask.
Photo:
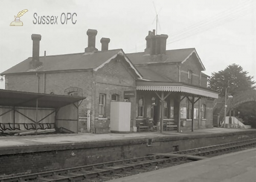
[{"label": "pale top surface of the far platform, without its brick face", "polygon": [[242,128],[207,128],[195,131],[183,131],[177,133],[177,131],[163,131],[160,132],[140,132],[130,134],[90,134],[90,133],[78,133],[78,134],[46,134],[46,135],[30,135],[30,136],[8,136],[0,137],[0,149],[6,147],[20,147],[20,146],[32,146],[32,145],[47,145],[47,144],[69,144],[69,143],[81,143],[81,142],[106,142],[106,141],[118,141],[127,139],[143,139],[143,138],[159,138],[159,137],[185,137],[195,135],[207,135],[207,134],[228,134],[241,131],[255,131],[256,129],[242,129]]}]

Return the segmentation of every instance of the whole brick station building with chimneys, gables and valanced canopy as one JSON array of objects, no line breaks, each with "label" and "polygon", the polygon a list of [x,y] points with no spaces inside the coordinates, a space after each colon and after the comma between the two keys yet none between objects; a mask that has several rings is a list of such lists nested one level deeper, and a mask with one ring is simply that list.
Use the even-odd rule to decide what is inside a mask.
[{"label": "whole brick station building with chimneys, gables and valanced canopy", "polygon": [[[82,53],[39,56],[41,35],[32,34],[32,57],[1,73],[6,89],[86,97],[79,106],[79,132],[118,132],[113,113],[121,120],[128,113],[128,132],[212,128],[218,94],[207,88],[195,48],[166,50],[168,36],[153,30],[143,52],[109,50],[109,38],[100,40],[99,51],[96,35],[87,30]],[[127,102],[129,108],[123,107]]]}]

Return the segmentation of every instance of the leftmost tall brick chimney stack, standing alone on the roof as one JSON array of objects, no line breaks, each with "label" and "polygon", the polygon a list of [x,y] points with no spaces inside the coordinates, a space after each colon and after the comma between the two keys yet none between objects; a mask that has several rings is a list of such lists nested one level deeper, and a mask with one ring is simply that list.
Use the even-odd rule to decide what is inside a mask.
[{"label": "leftmost tall brick chimney stack, standing alone on the roof", "polygon": [[32,61],[29,63],[29,69],[35,69],[42,65],[42,62],[39,61],[41,35],[32,34],[31,39],[33,41],[33,50],[32,50]]}]

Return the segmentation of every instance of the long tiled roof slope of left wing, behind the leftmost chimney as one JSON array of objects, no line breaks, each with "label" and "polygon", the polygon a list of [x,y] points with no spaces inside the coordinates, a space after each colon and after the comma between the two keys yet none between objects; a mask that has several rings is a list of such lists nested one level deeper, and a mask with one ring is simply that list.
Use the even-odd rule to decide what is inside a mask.
[{"label": "long tiled roof slope of left wing, behind the leftmost chimney", "polygon": [[[76,53],[76,54],[61,54],[40,57],[39,61],[43,66],[37,71],[57,71],[57,70],[76,70],[76,69],[93,69],[102,65],[105,61],[118,54],[122,49],[109,51],[99,51],[93,53]],[[29,62],[32,57],[18,63],[17,65],[4,71],[2,74],[22,73],[29,71]]]}]

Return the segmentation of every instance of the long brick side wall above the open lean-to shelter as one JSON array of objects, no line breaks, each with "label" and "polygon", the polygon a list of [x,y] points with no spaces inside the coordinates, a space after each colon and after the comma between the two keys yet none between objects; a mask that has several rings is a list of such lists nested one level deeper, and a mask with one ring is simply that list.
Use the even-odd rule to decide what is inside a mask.
[{"label": "long brick side wall above the open lean-to shelter", "polygon": [[[92,100],[92,73],[81,72],[59,72],[47,74],[25,74],[7,75],[6,89],[15,91],[39,92],[50,94],[67,95],[70,91],[79,92],[80,96],[86,97],[79,106],[79,116],[86,116],[87,110],[91,110]],[[44,86],[45,85],[45,86]],[[87,131],[87,123],[79,122],[79,132]]]}]

